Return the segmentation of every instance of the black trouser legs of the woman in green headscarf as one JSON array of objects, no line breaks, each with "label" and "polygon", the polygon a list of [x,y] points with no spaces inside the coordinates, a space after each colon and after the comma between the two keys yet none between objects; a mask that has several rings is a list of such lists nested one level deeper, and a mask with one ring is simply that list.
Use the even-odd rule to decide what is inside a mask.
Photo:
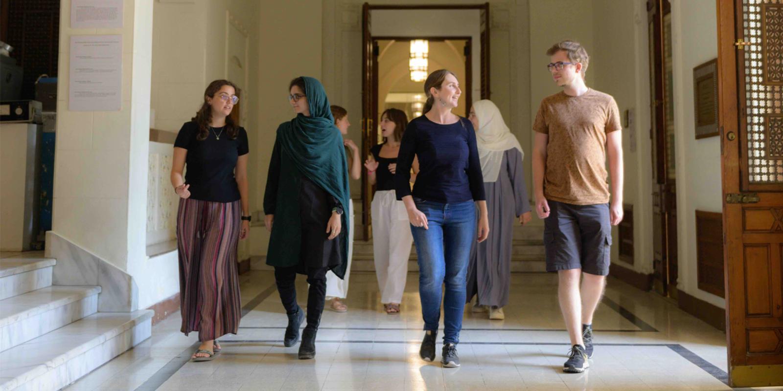
[{"label": "black trouser legs of the woman in green headscarf", "polygon": [[[307,282],[310,290],[307,295],[307,327],[317,330],[323,314],[323,302],[327,297],[327,271],[328,267],[309,268]],[[275,267],[275,282],[277,292],[280,293],[280,301],[287,314],[296,314],[296,274],[297,266]]]}]

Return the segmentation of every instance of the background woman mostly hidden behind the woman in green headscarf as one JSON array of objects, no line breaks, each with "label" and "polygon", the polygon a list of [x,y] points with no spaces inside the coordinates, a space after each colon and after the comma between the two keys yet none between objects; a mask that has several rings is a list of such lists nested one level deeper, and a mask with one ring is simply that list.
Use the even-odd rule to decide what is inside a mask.
[{"label": "background woman mostly hidden behind the woman in green headscarf", "polygon": [[[351,123],[348,122],[348,111],[341,106],[332,105],[332,117],[334,117],[334,126],[340,129],[340,133],[343,135],[343,144],[345,144],[345,156],[348,157],[348,175],[352,179],[362,178],[362,166],[359,159],[359,147],[356,146],[350,138],[345,138],[348,135],[348,127]],[[355,226],[353,217],[353,200],[348,202],[348,224],[351,228]],[[351,275],[351,258],[353,256],[353,232],[354,229],[348,230],[348,266],[345,267],[345,278],[340,279],[332,271],[327,272],[327,302],[326,306],[328,310],[334,312],[345,312],[348,310],[348,306],[341,300],[345,300],[348,297],[348,276]]]}]

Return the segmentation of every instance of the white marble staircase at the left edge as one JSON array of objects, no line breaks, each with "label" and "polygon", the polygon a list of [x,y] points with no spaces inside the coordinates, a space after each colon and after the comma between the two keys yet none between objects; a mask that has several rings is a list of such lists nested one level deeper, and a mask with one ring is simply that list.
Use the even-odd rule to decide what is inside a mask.
[{"label": "white marble staircase at the left edge", "polygon": [[61,389],[150,337],[152,310],[99,313],[101,287],[52,285],[56,260],[13,256],[0,259],[0,391]]}]

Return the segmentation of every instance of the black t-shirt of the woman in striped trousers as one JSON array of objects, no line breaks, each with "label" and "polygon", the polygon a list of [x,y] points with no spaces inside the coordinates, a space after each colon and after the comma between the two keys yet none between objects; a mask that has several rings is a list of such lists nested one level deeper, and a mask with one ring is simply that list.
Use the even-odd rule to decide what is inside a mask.
[{"label": "black t-shirt of the woman in striped trousers", "polygon": [[185,183],[190,185],[190,198],[218,203],[240,199],[234,167],[239,156],[248,152],[247,132],[239,127],[233,140],[226,135],[225,127],[211,127],[204,141],[198,141],[197,135],[198,125],[186,122],[174,142],[175,147],[188,150]]}]

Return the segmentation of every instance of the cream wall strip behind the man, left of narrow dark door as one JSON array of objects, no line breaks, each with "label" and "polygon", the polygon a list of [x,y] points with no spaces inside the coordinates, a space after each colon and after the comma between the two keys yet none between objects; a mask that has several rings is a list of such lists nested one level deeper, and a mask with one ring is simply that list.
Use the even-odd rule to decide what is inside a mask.
[{"label": "cream wall strip behind the man, left of narrow dark door", "polygon": [[[633,127],[622,129],[625,164],[623,203],[633,205],[634,263],[619,260],[612,246],[612,262],[642,274],[651,274],[652,199],[650,82],[647,10],[644,0],[594,0],[594,49],[589,51],[588,84],[615,97],[621,115],[633,111]],[[617,34],[622,31],[624,34]],[[634,135],[635,133],[635,135]],[[633,148],[632,148],[633,141]],[[614,230],[615,243],[617,229]]]}]

